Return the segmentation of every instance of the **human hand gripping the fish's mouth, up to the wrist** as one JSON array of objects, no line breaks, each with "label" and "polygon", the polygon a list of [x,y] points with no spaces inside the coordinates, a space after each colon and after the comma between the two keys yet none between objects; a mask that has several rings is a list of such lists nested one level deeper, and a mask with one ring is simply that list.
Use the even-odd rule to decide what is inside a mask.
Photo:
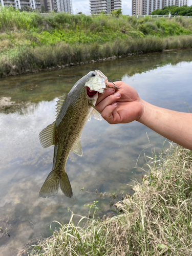
[{"label": "human hand gripping the fish's mouth, up to the wrist", "polygon": [[[109,86],[114,87],[114,84],[109,83]],[[137,91],[122,81],[115,82],[115,86],[119,89],[106,89],[98,96],[96,108],[101,116],[110,124],[138,121],[143,108]]]}]

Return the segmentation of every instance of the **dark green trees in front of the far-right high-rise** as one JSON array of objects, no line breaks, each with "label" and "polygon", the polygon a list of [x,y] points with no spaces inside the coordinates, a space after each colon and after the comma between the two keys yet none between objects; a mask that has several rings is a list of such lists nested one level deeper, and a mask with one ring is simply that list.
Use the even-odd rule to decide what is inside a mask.
[{"label": "dark green trees in front of the far-right high-rise", "polygon": [[192,6],[166,6],[163,9],[157,9],[152,12],[152,15],[168,15],[169,12],[172,15],[181,15],[181,16],[192,16]]}]

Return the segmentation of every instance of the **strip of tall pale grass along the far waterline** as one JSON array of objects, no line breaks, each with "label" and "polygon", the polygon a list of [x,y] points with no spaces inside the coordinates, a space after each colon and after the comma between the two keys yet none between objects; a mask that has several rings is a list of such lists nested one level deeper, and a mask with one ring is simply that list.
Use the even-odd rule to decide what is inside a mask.
[{"label": "strip of tall pale grass along the far waterline", "polygon": [[192,47],[192,36],[168,38],[145,37],[139,39],[116,40],[102,46],[97,42],[90,45],[69,45],[60,42],[54,46],[35,48],[19,46],[2,54],[0,77],[23,74],[38,69],[61,65],[78,65],[80,62],[100,60],[105,57],[126,56],[130,53],[157,52],[164,49]]}]

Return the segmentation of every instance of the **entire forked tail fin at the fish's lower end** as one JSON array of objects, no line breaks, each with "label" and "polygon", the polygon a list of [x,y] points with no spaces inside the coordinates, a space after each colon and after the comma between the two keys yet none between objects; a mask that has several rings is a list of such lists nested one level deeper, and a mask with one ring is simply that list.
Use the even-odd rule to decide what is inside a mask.
[{"label": "entire forked tail fin at the fish's lower end", "polygon": [[52,170],[47,179],[45,180],[44,184],[39,191],[39,197],[53,197],[58,193],[58,188],[62,190],[62,193],[66,195],[66,197],[72,197],[73,192],[71,188],[71,184],[66,172],[61,174],[61,178],[57,174],[55,174],[54,170]]}]

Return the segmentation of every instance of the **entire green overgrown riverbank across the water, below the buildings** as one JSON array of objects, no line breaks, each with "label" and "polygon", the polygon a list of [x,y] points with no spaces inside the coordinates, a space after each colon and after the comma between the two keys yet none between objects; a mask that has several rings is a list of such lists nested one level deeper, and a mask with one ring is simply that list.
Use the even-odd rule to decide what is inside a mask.
[{"label": "entire green overgrown riverbank across the water, below the buildings", "polygon": [[2,9],[0,77],[192,46],[192,20]]}]

